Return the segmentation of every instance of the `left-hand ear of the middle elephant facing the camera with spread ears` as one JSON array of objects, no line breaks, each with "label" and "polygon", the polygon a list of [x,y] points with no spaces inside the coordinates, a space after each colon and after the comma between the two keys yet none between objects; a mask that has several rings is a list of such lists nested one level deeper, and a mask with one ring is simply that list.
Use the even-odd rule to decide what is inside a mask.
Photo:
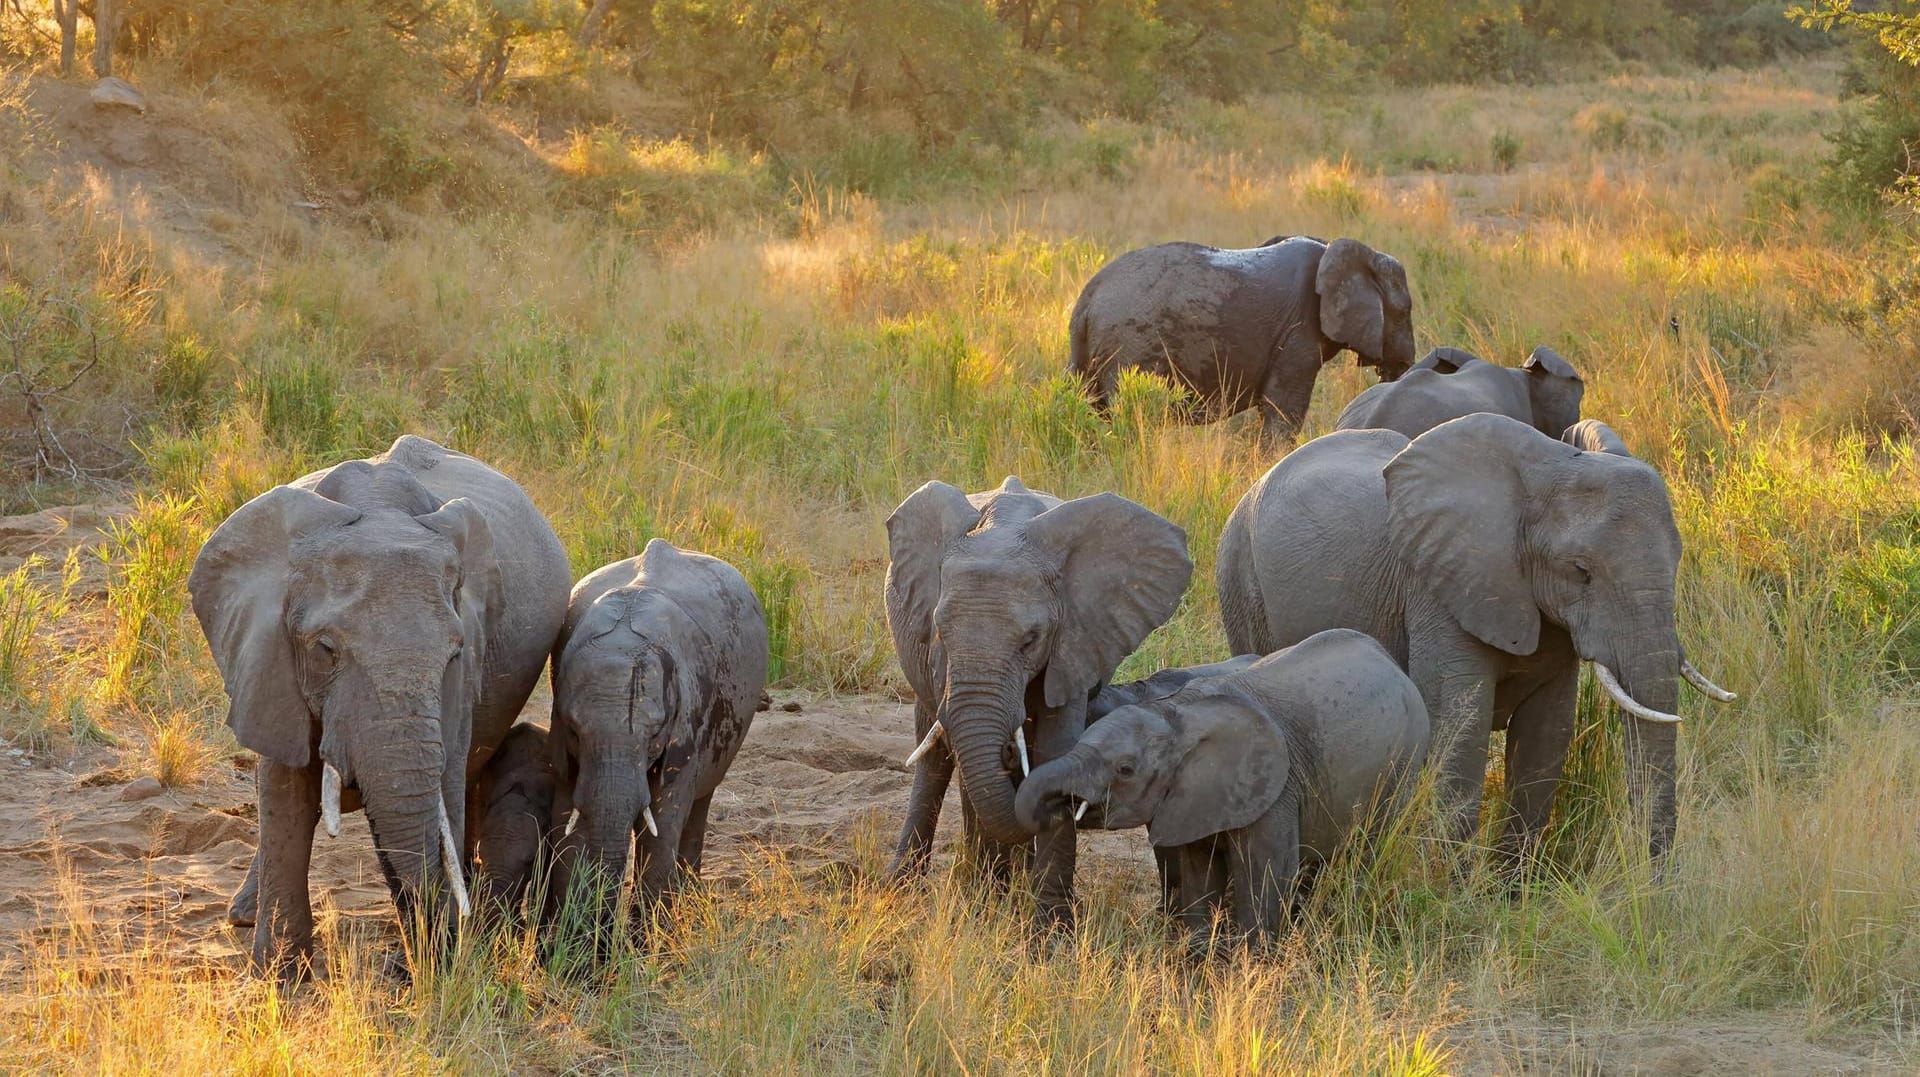
[{"label": "left-hand ear of the middle elephant facing the camera with spread ears", "polygon": [[887,622],[900,668],[920,699],[933,699],[925,655],[933,639],[933,607],[941,601],[941,559],[947,545],[973,530],[979,509],[958,486],[929,482],[887,516]]}]

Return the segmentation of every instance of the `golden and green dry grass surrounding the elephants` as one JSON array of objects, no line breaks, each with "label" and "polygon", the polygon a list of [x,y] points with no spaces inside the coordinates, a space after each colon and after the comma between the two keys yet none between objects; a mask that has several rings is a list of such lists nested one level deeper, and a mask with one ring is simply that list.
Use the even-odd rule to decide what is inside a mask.
[{"label": "golden and green dry grass surrounding the elephants", "polygon": [[[10,651],[38,655],[42,710],[71,699],[73,668],[104,678],[104,722],[163,779],[192,779],[192,730],[225,743],[179,605],[194,536],[401,430],[522,478],[582,570],[655,534],[735,559],[785,626],[793,685],[899,689],[879,520],[931,476],[1117,490],[1179,520],[1196,586],[1129,672],[1217,657],[1213,541],[1271,461],[1244,422],[1167,426],[1144,382],[1102,424],[1058,376],[1085,276],[1175,236],[1363,236],[1405,261],[1423,347],[1515,361],[1551,344],[1578,363],[1588,413],[1667,474],[1682,630],[1743,693],[1688,703],[1659,883],[1622,837],[1611,718],[1584,699],[1538,879],[1507,893],[1411,827],[1336,870],[1281,954],[1206,966],[1177,956],[1137,881],[1087,887],[1079,937],[1035,956],[1018,902],[964,877],[895,893],[797,877],[774,852],[605,981],[549,977],[505,937],[399,991],[336,939],[348,973],[284,998],[94,923],[77,879],[65,931],[31,946],[6,998],[27,1014],[10,1067],[1438,1073],[1465,1017],[1772,1008],[1910,1064],[1912,382],[1839,313],[1866,240],[1778,179],[1818,156],[1830,86],[1803,67],[1198,108],[1169,131],[1062,136],[1114,179],[1064,154],[931,203],[793,192],[789,217],[739,179],[747,159],[582,134],[543,152],[637,213],[620,227],[417,211],[396,217],[403,242],[301,227],[246,257],[196,255],[132,196],[10,180],[56,223],[15,250],[60,265],[58,234],[144,267],[167,296],[156,332],[207,355],[180,403],[204,419],[144,438],[154,499],[115,553],[108,641]],[[712,202],[697,232],[662,232],[660,198]],[[756,223],[722,225],[743,215]],[[1329,369],[1308,434],[1361,384]],[[169,718],[148,731],[138,714]],[[862,868],[879,829],[856,835]]]}]

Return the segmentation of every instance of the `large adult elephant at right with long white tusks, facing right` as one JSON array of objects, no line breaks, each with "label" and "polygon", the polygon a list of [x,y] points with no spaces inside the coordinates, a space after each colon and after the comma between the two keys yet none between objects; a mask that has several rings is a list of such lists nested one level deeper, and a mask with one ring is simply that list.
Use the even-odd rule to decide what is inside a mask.
[{"label": "large adult elephant at right with long white tusks, facing right", "polygon": [[[1434,722],[1428,754],[1459,837],[1507,731],[1507,841],[1544,829],[1574,730],[1580,660],[1626,724],[1626,781],[1659,856],[1674,837],[1680,532],[1647,465],[1584,453],[1503,415],[1407,440],[1342,430],[1240,499],[1217,584],[1235,651],[1354,628],[1398,658]],[[1718,693],[1690,672],[1697,685]],[[1724,695],[1724,693],[1722,693]]]}]

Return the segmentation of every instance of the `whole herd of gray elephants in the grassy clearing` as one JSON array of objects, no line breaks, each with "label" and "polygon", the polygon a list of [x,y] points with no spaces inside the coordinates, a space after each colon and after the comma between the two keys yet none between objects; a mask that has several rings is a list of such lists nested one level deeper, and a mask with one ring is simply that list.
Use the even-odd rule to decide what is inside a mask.
[{"label": "whole herd of gray elephants in the grassy clearing", "polygon": [[[1190,390],[1190,419],[1260,407],[1263,442],[1298,430],[1336,351],[1384,380],[1235,507],[1215,562],[1235,657],[1208,666],[1112,683],[1192,576],[1187,534],[1154,511],[1012,476],[927,482],[895,509],[885,612],[920,739],[897,877],[925,868],[958,772],[970,858],[996,881],[1029,872],[1043,925],[1073,921],[1077,829],[1144,826],[1169,914],[1273,935],[1315,864],[1428,762],[1471,835],[1494,730],[1524,852],[1582,660],[1630,716],[1647,849],[1670,847],[1678,683],[1732,695],[1680,645],[1667,486],[1580,420],[1567,359],[1413,363],[1400,263],[1306,236],[1121,255],[1069,336],[1096,407],[1144,369]],[[630,849],[641,906],[699,872],[708,802],[764,705],[760,603],[730,564],[660,539],[568,578],[513,480],[417,436],[213,532],[188,589],[228,724],[259,754],[259,845],[228,910],[257,968],[309,968],[313,831],[355,808],[401,920],[442,929],[516,910],[538,864],[545,927],[591,898],[605,929]],[[549,664],[551,728],[515,724]]]}]

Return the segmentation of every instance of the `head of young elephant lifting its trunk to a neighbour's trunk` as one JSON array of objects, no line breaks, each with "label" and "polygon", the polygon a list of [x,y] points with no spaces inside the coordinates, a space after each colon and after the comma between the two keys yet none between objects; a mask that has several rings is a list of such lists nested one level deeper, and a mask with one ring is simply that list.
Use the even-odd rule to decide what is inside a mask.
[{"label": "head of young elephant lifting its trunk to a neighbour's trunk", "polygon": [[1156,847],[1240,829],[1286,791],[1292,753],[1281,726],[1231,687],[1181,703],[1121,706],[1037,766],[1014,810],[1029,829],[1068,818],[1106,829],[1144,826]]}]

